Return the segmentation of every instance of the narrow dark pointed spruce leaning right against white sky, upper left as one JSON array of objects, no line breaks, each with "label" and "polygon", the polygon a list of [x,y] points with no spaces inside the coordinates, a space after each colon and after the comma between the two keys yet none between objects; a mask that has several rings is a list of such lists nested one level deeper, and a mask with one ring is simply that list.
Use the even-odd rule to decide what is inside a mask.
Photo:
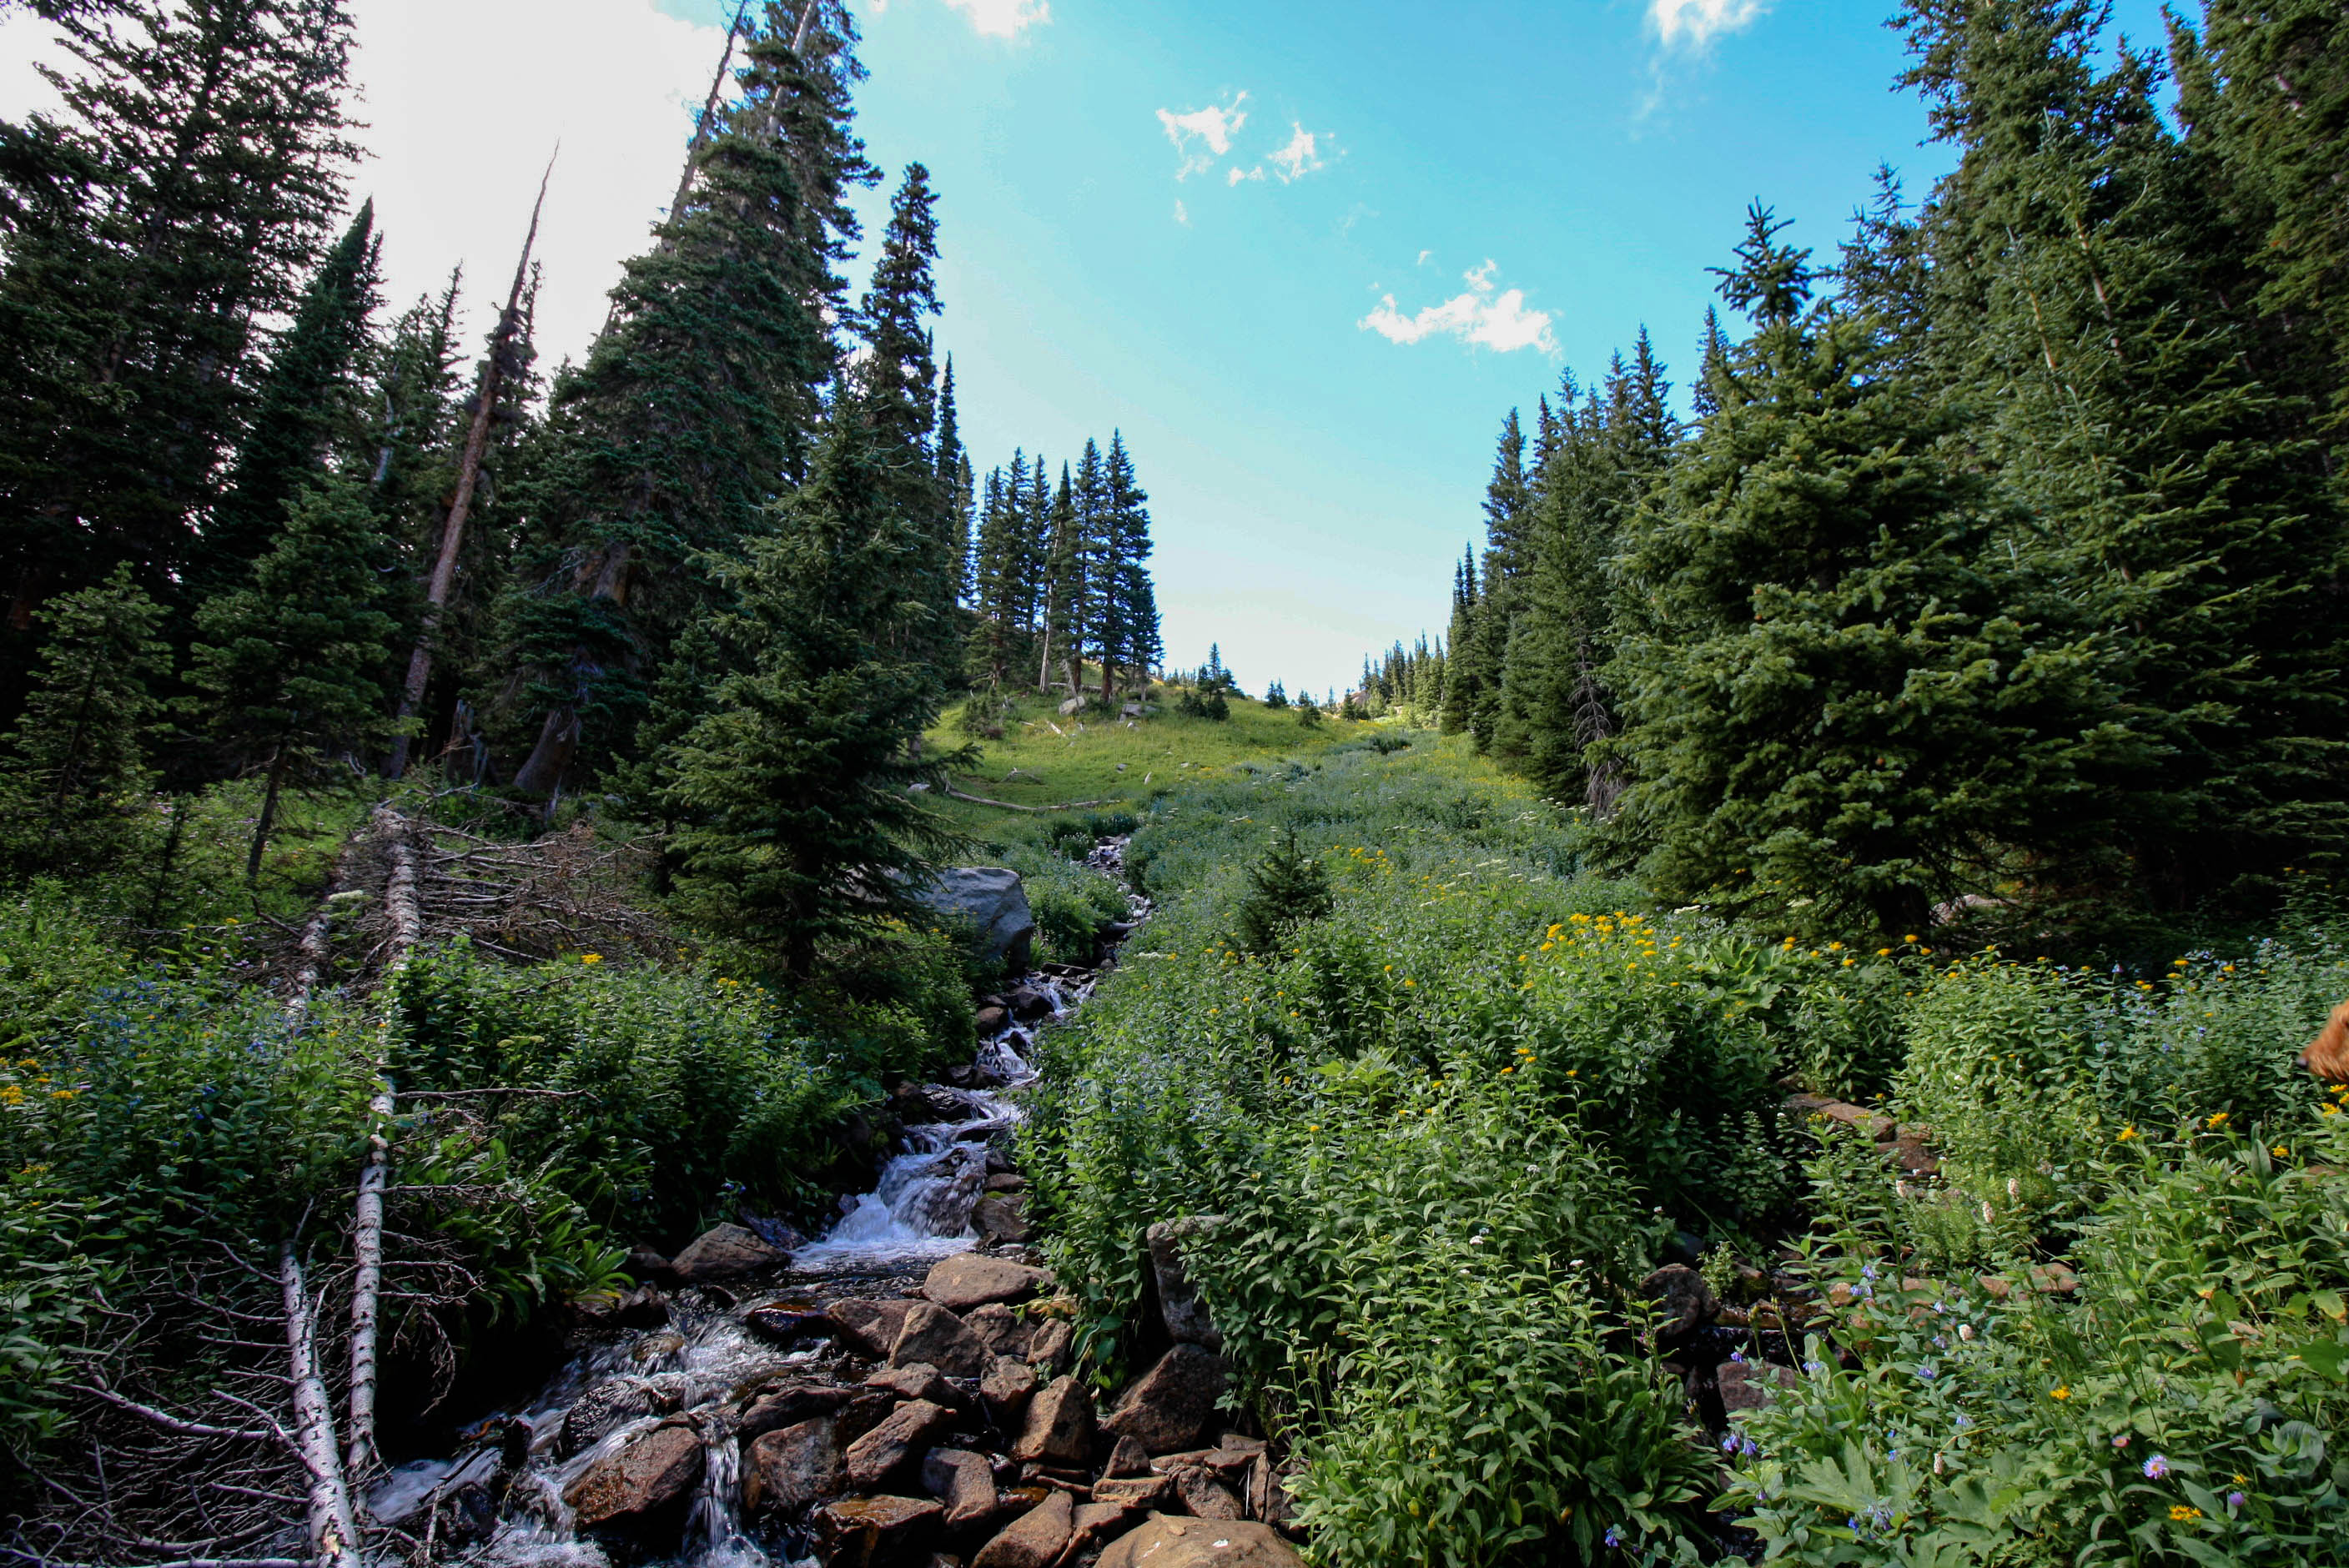
[{"label": "narrow dark pointed spruce leaning right against white sky, upper left", "polygon": [[348,451],[362,430],[355,371],[369,347],[366,317],[381,303],[376,284],[383,277],[383,239],[373,230],[376,204],[366,202],[327,251],[270,352],[251,427],[204,523],[200,592],[242,582],[254,556],[270,547],[287,502],[317,479],[334,446]]}]

